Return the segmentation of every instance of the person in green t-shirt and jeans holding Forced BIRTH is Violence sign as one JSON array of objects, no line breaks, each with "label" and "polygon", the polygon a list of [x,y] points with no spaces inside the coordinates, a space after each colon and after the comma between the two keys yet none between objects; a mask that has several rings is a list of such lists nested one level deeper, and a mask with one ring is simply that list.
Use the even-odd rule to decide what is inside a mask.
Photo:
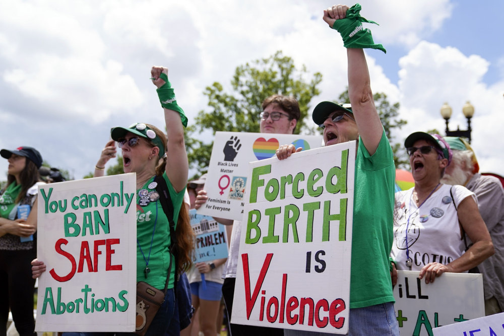
[{"label": "person in green t-shirt and jeans holding Forced BIRTH is Violence sign", "polygon": [[[350,271],[349,335],[399,335],[390,280],[395,165],[390,143],[374,106],[369,71],[362,48],[385,51],[372,42],[359,15],[361,8],[337,5],[324,11],[323,20],[342,36],[347,47],[348,95],[351,109],[322,102],[313,121],[324,129],[324,144],[357,141]],[[279,159],[300,151],[293,145],[277,150]],[[332,284],[327,284],[331,286]],[[284,329],[285,335],[325,335]]]}]

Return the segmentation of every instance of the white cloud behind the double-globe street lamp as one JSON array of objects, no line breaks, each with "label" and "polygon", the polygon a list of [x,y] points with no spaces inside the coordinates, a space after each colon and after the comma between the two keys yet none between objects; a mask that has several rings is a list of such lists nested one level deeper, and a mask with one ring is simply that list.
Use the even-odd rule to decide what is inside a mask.
[{"label": "white cloud behind the double-globe street lamp", "polygon": [[504,125],[504,81],[490,87],[483,82],[489,62],[478,55],[464,55],[453,47],[422,41],[399,64],[401,117],[408,120],[402,136],[433,128],[444,134],[445,123],[440,115],[444,102],[453,110],[450,129],[466,129],[462,106],[470,101],[475,107],[472,146],[480,167],[482,171],[502,173],[502,158],[496,158],[495,153],[504,151],[504,143],[495,139],[500,138]]}]

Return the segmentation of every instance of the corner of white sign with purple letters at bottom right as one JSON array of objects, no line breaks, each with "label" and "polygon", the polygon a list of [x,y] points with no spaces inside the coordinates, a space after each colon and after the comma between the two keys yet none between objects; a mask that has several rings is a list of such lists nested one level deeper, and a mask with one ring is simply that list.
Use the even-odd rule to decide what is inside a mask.
[{"label": "corner of white sign with purple letters at bottom right", "polygon": [[503,336],[504,313],[432,329],[434,336]]}]

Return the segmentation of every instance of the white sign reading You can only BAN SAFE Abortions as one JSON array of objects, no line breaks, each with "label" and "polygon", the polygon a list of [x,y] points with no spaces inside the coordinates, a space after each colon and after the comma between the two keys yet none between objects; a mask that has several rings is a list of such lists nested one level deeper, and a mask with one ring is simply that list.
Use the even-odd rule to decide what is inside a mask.
[{"label": "white sign reading You can only BAN SAFE Abortions", "polygon": [[39,187],[37,331],[134,331],[134,173]]}]

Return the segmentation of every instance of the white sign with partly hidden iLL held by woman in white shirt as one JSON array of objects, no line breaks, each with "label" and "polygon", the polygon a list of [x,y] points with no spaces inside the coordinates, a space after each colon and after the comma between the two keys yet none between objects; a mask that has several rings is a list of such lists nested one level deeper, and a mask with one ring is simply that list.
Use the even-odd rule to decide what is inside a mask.
[{"label": "white sign with partly hidden iLL held by woman in white shirt", "polygon": [[419,271],[397,271],[394,287],[401,335],[432,335],[432,329],[485,315],[481,274],[444,273],[433,283]]}]

